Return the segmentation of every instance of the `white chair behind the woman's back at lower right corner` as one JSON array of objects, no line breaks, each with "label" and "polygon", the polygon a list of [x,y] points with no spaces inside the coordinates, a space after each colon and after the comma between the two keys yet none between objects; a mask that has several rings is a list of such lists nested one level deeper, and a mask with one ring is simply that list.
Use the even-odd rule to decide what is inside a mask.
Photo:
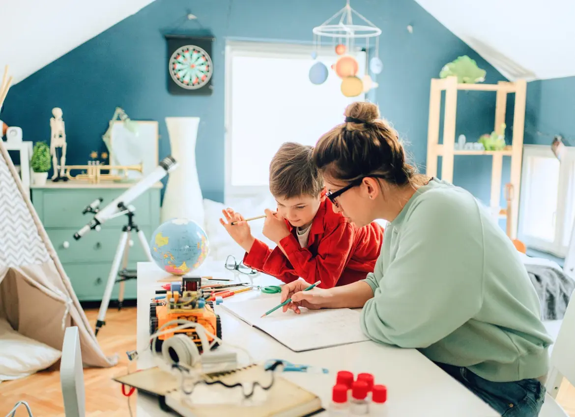
[{"label": "white chair behind the woman's back at lower right corner", "polygon": [[575,385],[575,297],[571,296],[559,334],[551,351],[551,369],[547,375],[547,394],[539,417],[569,417],[555,397],[565,377]]}]

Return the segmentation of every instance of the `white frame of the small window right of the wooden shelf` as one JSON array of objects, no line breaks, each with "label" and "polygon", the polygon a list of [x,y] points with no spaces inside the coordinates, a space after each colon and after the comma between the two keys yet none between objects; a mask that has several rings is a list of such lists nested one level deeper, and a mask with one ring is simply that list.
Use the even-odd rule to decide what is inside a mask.
[{"label": "white frame of the small window right of the wooden shelf", "polygon": [[[562,156],[563,160],[559,163],[557,206],[555,207],[555,238],[551,243],[546,240],[539,239],[536,236],[526,235],[523,231],[524,219],[522,219],[522,213],[526,212],[527,204],[526,198],[523,197],[527,196],[527,187],[529,186],[527,181],[527,170],[528,165],[530,164],[530,159],[534,157],[555,159],[555,155],[553,154],[553,151],[551,151],[550,145],[526,144],[523,146],[521,170],[522,181],[519,197],[519,235],[521,236],[523,243],[525,243],[528,248],[544,251],[559,258],[565,258],[573,229],[573,227],[569,230],[566,229],[566,225],[569,224],[566,205],[568,203],[569,196],[571,196],[570,198],[573,200],[573,195],[575,195],[575,183],[570,184],[570,175],[573,175],[572,170],[575,169],[575,166],[573,165],[575,163],[575,147],[565,146],[565,152]],[[570,204],[574,204],[573,201],[571,201]],[[573,219],[570,221],[573,221]],[[568,240],[566,245],[563,244],[563,240],[565,238]]]}]

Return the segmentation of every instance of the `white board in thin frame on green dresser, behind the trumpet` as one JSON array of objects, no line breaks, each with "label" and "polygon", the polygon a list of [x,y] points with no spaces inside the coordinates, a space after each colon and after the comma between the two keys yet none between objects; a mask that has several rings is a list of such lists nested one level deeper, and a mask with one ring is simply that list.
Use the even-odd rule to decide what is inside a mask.
[{"label": "white board in thin frame on green dresser, behind the trumpet", "polygon": [[[132,133],[121,120],[114,121],[110,131],[110,165],[142,164],[142,172],[128,170],[128,181],[139,181],[150,174],[159,163],[159,125],[155,120],[132,120],[137,133]],[[117,170],[110,174],[117,175]]]}]

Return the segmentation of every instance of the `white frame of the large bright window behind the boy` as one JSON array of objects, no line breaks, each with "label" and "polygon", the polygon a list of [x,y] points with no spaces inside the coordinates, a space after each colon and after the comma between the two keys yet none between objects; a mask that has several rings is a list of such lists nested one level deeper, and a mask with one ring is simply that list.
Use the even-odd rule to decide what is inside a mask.
[{"label": "white frame of the large bright window behind the boy", "polygon": [[[269,186],[235,186],[232,185],[232,71],[233,71],[233,58],[235,56],[249,56],[249,57],[264,57],[264,58],[286,58],[287,55],[292,55],[293,58],[309,59],[310,66],[312,65],[311,54],[316,51],[320,56],[338,56],[335,53],[335,48],[329,46],[315,46],[313,44],[294,44],[267,42],[267,41],[242,41],[242,40],[227,40],[225,44],[225,87],[224,87],[224,201],[236,200],[239,198],[261,198],[262,196],[269,195]],[[365,52],[363,48],[356,47],[355,53]],[[365,62],[366,73],[369,65],[367,63],[367,53]],[[365,101],[367,93],[362,93],[356,97],[356,101]]]}]

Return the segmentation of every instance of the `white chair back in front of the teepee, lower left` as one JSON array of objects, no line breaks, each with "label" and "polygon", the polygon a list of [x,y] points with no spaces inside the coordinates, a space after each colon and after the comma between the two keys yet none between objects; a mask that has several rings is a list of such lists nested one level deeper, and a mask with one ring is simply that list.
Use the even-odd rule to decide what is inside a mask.
[{"label": "white chair back in front of the teepee, lower left", "polygon": [[84,369],[78,327],[66,328],[60,360],[60,385],[66,417],[85,417]]}]

